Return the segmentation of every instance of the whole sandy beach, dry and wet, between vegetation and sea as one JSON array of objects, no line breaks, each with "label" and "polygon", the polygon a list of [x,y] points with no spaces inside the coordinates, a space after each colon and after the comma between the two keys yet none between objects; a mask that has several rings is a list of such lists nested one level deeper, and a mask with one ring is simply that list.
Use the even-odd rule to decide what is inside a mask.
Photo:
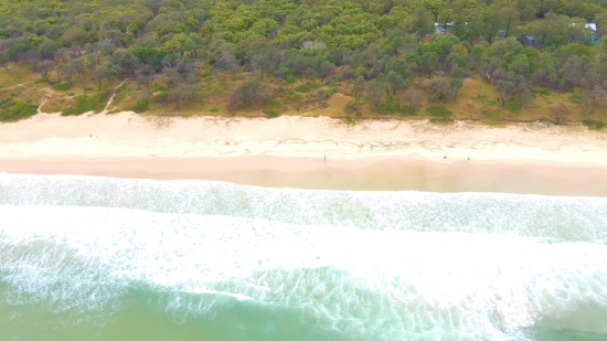
[{"label": "whole sandy beach, dry and wet, between vegetation and sea", "polygon": [[0,125],[0,171],[603,196],[607,135],[540,124],[41,114]]}]

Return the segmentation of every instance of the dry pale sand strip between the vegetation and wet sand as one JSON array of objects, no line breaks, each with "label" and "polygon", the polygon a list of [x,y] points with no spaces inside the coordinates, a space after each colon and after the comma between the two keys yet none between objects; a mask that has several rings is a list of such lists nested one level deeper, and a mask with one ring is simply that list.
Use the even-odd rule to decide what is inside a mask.
[{"label": "dry pale sand strip between the vegetation and wet sand", "polygon": [[607,134],[576,127],[368,120],[348,127],[321,117],[163,118],[131,113],[41,114],[0,125],[0,159],[281,156],[329,159],[560,161],[607,164]]}]

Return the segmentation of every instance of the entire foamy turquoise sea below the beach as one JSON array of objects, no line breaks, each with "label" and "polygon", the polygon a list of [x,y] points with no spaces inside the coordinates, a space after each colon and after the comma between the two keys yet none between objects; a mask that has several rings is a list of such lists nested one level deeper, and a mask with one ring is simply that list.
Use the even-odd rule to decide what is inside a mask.
[{"label": "entire foamy turquoise sea below the beach", "polygon": [[0,340],[607,340],[606,213],[0,174]]}]

